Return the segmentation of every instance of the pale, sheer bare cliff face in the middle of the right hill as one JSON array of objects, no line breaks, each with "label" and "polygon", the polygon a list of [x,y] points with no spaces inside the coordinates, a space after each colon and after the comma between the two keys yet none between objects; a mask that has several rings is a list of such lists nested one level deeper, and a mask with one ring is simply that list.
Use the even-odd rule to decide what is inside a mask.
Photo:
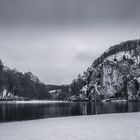
[{"label": "pale, sheer bare cliff face in the middle of the right hill", "polygon": [[129,59],[123,59],[118,62],[107,61],[103,63],[103,83],[106,93],[114,96],[115,93],[123,90],[125,86],[125,78],[130,71],[133,62]]}]

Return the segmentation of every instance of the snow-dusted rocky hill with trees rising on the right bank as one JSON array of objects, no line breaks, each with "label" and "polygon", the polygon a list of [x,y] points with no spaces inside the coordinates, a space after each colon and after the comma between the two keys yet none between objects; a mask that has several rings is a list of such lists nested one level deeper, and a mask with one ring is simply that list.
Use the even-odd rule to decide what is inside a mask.
[{"label": "snow-dusted rocky hill with trees rising on the right bank", "polygon": [[77,97],[82,94],[89,100],[111,97],[138,99],[140,40],[127,41],[109,48],[74,82],[71,89],[77,89],[72,90]]}]

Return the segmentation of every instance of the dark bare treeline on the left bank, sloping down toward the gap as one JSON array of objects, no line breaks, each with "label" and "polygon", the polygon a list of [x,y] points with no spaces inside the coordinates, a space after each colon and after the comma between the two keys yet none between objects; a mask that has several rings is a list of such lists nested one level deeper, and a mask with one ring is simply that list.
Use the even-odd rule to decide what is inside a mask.
[{"label": "dark bare treeline on the left bank, sloping down toward the gap", "polygon": [[21,73],[4,66],[0,60],[0,93],[4,89],[13,96],[29,99],[51,99],[46,85],[39,81],[31,72]]}]

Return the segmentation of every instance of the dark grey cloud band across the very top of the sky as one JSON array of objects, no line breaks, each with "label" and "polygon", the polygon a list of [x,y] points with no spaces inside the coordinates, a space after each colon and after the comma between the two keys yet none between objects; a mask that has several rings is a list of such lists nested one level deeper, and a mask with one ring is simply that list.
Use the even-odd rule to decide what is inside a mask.
[{"label": "dark grey cloud band across the very top of the sky", "polygon": [[73,24],[125,21],[140,15],[139,0],[1,0],[3,22]]}]

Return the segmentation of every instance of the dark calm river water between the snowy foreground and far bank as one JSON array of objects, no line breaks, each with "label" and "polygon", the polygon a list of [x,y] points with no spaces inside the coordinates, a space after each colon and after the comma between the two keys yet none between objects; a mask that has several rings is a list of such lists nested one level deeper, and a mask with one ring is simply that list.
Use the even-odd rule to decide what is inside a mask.
[{"label": "dark calm river water between the snowy foreground and far bank", "polygon": [[0,103],[0,122],[140,111],[140,102]]}]

